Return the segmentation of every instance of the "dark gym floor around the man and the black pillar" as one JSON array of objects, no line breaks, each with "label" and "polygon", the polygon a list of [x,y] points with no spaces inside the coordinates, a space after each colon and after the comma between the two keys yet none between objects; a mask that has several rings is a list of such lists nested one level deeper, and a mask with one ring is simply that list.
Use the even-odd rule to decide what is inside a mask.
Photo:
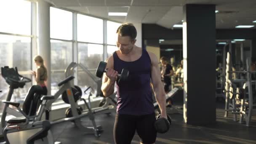
[{"label": "dark gym floor around the man and the black pillar", "polygon": [[[216,125],[186,125],[182,114],[170,115],[171,129],[164,134],[158,133],[156,144],[256,144],[255,115],[252,117],[252,126],[248,128],[244,124],[233,121],[232,115],[223,117],[224,102],[217,102],[216,107]],[[182,110],[179,112],[182,113]],[[255,111],[253,113],[255,114]],[[61,141],[62,144],[114,144],[114,122],[114,114],[96,116],[97,125],[102,125],[104,129],[99,138],[92,133],[80,131],[71,122],[54,125],[51,129],[56,141]],[[83,123],[91,125],[88,118],[83,118]],[[133,137],[132,144],[139,144],[137,134]]]}]

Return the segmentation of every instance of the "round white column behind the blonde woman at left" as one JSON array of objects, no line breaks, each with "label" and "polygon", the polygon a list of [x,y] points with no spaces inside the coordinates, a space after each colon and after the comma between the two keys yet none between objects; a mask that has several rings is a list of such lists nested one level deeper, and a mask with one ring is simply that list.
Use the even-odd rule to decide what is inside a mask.
[{"label": "round white column behind the blonde woman at left", "polygon": [[50,4],[44,0],[38,0],[38,55],[44,59],[47,69],[47,89],[51,94],[51,43],[50,43]]}]

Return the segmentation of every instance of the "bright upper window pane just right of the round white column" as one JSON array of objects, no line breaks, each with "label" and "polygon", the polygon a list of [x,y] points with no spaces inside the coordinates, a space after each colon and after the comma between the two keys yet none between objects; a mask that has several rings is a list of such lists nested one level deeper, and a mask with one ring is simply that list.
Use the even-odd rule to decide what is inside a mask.
[{"label": "bright upper window pane just right of the round white column", "polygon": [[72,12],[50,8],[51,38],[72,40]]}]

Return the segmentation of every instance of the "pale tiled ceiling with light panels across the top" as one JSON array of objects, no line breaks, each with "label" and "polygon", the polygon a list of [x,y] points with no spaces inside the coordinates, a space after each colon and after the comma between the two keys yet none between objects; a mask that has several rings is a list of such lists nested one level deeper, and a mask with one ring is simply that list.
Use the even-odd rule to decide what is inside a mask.
[{"label": "pale tiled ceiling with light panels across the top", "polygon": [[[119,22],[155,23],[163,27],[180,24],[185,4],[216,4],[216,27],[255,25],[256,0],[45,0],[56,7],[86,13]],[[131,3],[132,2],[132,3]],[[175,6],[180,6],[175,10]],[[108,16],[108,12],[127,12],[125,16]],[[231,13],[229,13],[231,12]],[[256,27],[253,27],[256,28]]]}]

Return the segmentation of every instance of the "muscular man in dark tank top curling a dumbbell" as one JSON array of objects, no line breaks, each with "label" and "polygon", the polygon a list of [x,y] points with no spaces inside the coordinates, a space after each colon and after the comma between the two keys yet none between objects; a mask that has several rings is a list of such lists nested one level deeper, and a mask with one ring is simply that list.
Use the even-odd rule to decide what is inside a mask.
[{"label": "muscular man in dark tank top curling a dumbbell", "polygon": [[[101,86],[104,96],[114,92],[115,84],[117,87],[115,144],[131,144],[135,131],[141,144],[155,144],[157,132],[151,82],[162,117],[167,118],[158,59],[154,53],[135,45],[137,32],[133,24],[122,24],[116,33],[118,50],[107,59],[108,70],[103,75]],[[117,74],[123,68],[129,70],[128,80],[117,83]]]}]

